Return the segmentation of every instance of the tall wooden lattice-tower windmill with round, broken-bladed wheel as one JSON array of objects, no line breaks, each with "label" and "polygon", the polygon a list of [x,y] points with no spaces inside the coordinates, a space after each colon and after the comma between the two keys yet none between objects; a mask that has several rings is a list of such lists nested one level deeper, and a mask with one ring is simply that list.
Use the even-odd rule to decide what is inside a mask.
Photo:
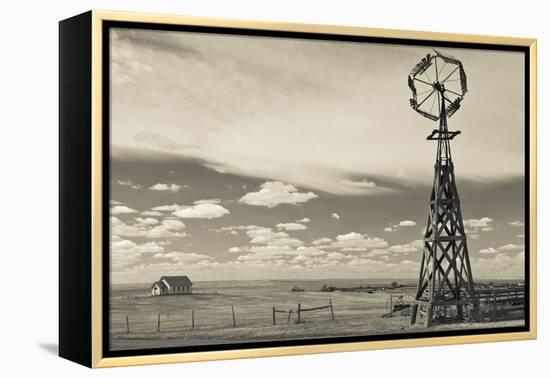
[{"label": "tall wooden lattice-tower windmill with round, broken-bladed wheel", "polygon": [[[466,74],[458,59],[434,50],[412,69],[408,83],[412,91],[411,107],[420,115],[439,122],[439,127],[427,137],[437,141],[437,154],[411,324],[416,322],[419,306],[426,311],[426,327],[437,319],[464,319],[466,306],[472,306],[477,320],[479,306],[450,145],[460,131],[447,127],[447,119],[460,109],[468,91]],[[449,314],[448,308],[456,308],[456,313],[450,311]]]}]

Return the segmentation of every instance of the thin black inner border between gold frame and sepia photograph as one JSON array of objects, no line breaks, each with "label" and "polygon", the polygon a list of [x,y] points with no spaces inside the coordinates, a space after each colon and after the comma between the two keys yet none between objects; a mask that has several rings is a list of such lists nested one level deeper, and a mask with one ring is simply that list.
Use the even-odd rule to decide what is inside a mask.
[{"label": "thin black inner border between gold frame and sepia photograph", "polygon": [[[313,40],[330,40],[342,42],[363,42],[363,43],[383,43],[397,45],[415,45],[430,47],[452,47],[452,48],[468,48],[478,50],[499,50],[499,51],[516,51],[524,54],[524,82],[525,82],[525,103],[524,103],[524,177],[525,177],[525,323],[520,327],[500,327],[500,328],[485,328],[471,330],[447,330],[447,331],[432,331],[432,332],[414,332],[404,334],[381,334],[368,336],[345,336],[345,337],[324,337],[301,340],[277,340],[277,341],[257,341],[245,343],[231,344],[212,344],[200,346],[182,346],[182,347],[167,347],[167,348],[147,348],[147,349],[132,349],[132,350],[117,350],[109,349],[110,333],[109,333],[109,306],[110,306],[110,259],[109,259],[109,240],[110,240],[110,223],[109,223],[109,200],[110,200],[110,39],[109,31],[111,28],[129,28],[129,29],[147,29],[147,30],[165,30],[165,31],[180,31],[180,32],[200,32],[214,34],[231,34],[242,36],[258,36],[272,38],[299,38]],[[240,28],[212,27],[212,26],[191,26],[191,25],[168,25],[159,23],[145,22],[125,22],[125,21],[103,21],[102,22],[102,168],[103,168],[103,282],[102,282],[102,304],[103,304],[103,357],[126,357],[139,355],[155,355],[168,353],[190,353],[190,352],[206,352],[216,350],[236,350],[236,349],[255,349],[268,347],[285,347],[285,346],[305,346],[317,344],[337,344],[360,341],[379,341],[379,340],[400,340],[400,339],[416,339],[416,338],[433,338],[433,337],[449,337],[449,336],[464,336],[464,335],[481,335],[481,334],[500,334],[509,332],[528,332],[530,330],[530,272],[529,272],[529,251],[530,251],[530,55],[528,46],[515,45],[498,45],[498,44],[482,44],[482,43],[463,43],[463,42],[444,42],[430,40],[415,40],[401,38],[385,38],[385,37],[369,37],[369,36],[352,36],[352,35],[335,35],[322,33],[305,33],[305,32],[289,32],[289,31],[271,31],[271,30],[251,30]],[[420,57],[419,57],[420,58]],[[407,72],[403,73],[403,85]]]}]

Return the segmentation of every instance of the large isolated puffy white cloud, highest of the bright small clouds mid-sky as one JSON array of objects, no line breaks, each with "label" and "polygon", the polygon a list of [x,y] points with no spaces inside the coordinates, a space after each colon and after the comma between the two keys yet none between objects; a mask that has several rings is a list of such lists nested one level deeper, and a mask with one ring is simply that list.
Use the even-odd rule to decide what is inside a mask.
[{"label": "large isolated puffy white cloud, highest of the bright small clouds mid-sky", "polygon": [[275,207],[281,204],[297,205],[317,198],[312,192],[301,193],[296,187],[278,181],[267,181],[263,183],[257,192],[246,193],[240,203],[251,206]]}]

